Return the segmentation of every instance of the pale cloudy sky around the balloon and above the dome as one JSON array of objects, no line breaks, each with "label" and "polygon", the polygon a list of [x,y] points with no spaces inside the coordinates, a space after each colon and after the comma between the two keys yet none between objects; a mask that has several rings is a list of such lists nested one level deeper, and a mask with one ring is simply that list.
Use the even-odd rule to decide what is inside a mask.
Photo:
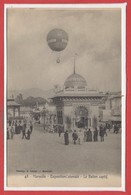
[{"label": "pale cloudy sky around the balloon and above the dome", "polygon": [[[61,28],[67,47],[52,52],[47,34]],[[52,89],[63,86],[73,73],[83,76],[89,88],[121,90],[120,9],[49,10],[9,8],[7,19],[7,80],[9,90]]]}]

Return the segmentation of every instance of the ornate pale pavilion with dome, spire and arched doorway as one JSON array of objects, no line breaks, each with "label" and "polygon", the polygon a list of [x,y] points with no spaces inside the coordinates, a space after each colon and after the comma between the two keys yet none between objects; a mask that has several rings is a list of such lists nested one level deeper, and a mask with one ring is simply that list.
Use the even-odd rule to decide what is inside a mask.
[{"label": "ornate pale pavilion with dome, spire and arched doorway", "polygon": [[57,125],[64,130],[94,129],[99,123],[99,105],[104,94],[88,88],[86,79],[74,72],[64,82],[63,90],[52,101],[56,107]]}]

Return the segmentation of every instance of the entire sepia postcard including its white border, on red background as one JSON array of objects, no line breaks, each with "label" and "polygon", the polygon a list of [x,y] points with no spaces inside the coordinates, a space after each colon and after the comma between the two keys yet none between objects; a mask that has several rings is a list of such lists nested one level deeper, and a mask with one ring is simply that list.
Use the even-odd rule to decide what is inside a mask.
[{"label": "entire sepia postcard including its white border, on red background", "polygon": [[7,190],[124,191],[125,5],[6,5]]}]

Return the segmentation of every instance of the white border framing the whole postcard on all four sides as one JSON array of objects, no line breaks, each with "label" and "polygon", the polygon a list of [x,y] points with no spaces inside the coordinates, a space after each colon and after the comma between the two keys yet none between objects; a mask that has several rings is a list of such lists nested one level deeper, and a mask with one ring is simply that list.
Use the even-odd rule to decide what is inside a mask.
[{"label": "white border framing the whole postcard on all four sides", "polygon": [[[4,5],[4,190],[5,191],[125,191],[125,160],[126,160],[126,5],[127,3],[112,3],[112,4],[5,4]],[[7,81],[7,41],[6,41],[6,10],[7,8],[55,8],[55,9],[86,9],[86,8],[121,8],[121,40],[122,40],[122,54],[121,54],[121,67],[122,67],[122,186],[121,187],[7,187],[6,174],[6,81]]]}]

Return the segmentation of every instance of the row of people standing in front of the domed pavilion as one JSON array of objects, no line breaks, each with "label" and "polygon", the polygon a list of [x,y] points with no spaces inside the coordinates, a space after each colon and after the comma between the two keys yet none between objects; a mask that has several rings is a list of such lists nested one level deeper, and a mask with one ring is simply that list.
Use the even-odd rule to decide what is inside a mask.
[{"label": "row of people standing in front of the domed pavilion", "polygon": [[[82,140],[84,142],[97,142],[98,136],[100,136],[100,141],[103,142],[105,135],[107,136],[106,128],[100,126],[99,131],[97,128],[95,128],[93,132],[91,131],[91,129],[85,129],[84,132],[82,130],[79,130],[78,132],[74,130],[72,133],[72,140],[74,144],[81,144]],[[65,145],[69,144],[69,133],[67,130],[64,133],[64,141]]]}]

